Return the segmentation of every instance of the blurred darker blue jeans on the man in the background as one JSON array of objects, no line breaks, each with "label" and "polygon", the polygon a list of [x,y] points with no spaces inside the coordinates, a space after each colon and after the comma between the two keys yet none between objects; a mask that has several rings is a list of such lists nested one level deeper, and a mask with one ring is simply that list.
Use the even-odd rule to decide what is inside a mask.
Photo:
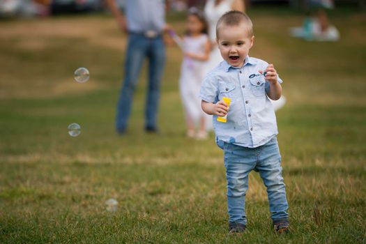
[{"label": "blurred darker blue jeans on the man in the background", "polygon": [[125,56],[125,76],[117,104],[116,130],[123,132],[130,117],[133,93],[144,63],[148,59],[148,92],[146,98],[146,128],[156,128],[160,96],[160,80],[165,65],[165,45],[162,37],[147,38],[130,33]]}]

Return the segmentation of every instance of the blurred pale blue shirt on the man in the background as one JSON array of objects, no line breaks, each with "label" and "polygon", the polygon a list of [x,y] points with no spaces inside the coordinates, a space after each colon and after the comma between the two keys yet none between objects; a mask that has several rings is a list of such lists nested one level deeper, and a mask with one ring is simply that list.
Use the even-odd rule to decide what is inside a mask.
[{"label": "blurred pale blue shirt on the man in the background", "polygon": [[165,26],[165,0],[127,0],[125,17],[128,31],[160,33]]}]

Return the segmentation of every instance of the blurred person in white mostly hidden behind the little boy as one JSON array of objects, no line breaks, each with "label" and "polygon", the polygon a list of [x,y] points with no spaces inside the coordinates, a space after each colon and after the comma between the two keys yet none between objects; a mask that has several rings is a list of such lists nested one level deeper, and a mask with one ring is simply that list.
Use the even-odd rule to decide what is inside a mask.
[{"label": "blurred person in white mostly hidden behind the little boy", "polygon": [[[206,62],[206,66],[203,69],[204,75],[208,73],[210,70],[218,66],[218,64],[222,61],[222,56],[220,55],[220,51],[217,47],[216,43],[216,23],[218,22],[221,15],[227,13],[230,10],[238,10],[241,12],[245,12],[245,4],[244,0],[207,0],[206,5],[204,7],[204,13],[206,15],[206,19],[208,21],[208,35],[210,36],[211,41],[211,53],[210,58]],[[279,100],[271,100],[273,108],[275,110],[283,107],[286,99],[284,96],[281,96]],[[212,121],[209,121],[208,128],[212,127]]]}]

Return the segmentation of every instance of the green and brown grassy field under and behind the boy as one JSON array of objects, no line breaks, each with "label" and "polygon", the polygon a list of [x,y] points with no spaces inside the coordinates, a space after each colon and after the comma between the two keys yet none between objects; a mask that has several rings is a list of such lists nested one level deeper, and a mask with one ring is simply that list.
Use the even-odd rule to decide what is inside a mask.
[{"label": "green and brown grassy field under and behind the boy", "polygon": [[[116,135],[125,36],[97,15],[0,22],[0,243],[366,243],[365,15],[334,13],[337,43],[289,38],[298,13],[250,15],[251,56],[284,79],[277,122],[291,234],[273,233],[252,172],[248,230],[228,235],[222,151],[213,135],[185,138],[178,47],[167,48],[162,135],[142,130],[146,72],[128,134]],[[84,84],[73,80],[80,66],[91,72]],[[73,122],[79,137],[68,135]]]}]

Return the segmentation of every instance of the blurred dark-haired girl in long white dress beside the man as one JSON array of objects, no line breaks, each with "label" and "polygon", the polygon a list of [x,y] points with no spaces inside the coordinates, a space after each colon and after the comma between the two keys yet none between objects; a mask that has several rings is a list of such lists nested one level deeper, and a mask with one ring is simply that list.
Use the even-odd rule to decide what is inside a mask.
[{"label": "blurred dark-haired girl in long white dress beside the man", "polygon": [[[181,43],[183,48],[183,62],[179,88],[185,108],[188,137],[204,139],[207,137],[206,118],[201,109],[199,90],[203,80],[202,69],[208,60],[210,42],[207,36],[208,25],[204,13],[197,8],[190,8],[187,18],[187,31]],[[196,125],[199,125],[196,133]]]}]

